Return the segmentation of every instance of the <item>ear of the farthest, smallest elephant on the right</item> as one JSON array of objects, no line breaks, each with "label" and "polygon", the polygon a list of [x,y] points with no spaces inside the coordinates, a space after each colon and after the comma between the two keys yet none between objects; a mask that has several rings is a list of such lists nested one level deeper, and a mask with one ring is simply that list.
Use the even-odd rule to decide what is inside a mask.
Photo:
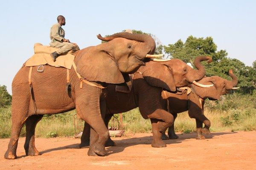
[{"label": "ear of the farthest, smallest elephant on the right", "polygon": [[204,77],[203,79],[201,79],[198,82],[203,85],[214,84],[214,86],[212,86],[210,88],[201,88],[201,87],[198,87],[198,86],[192,84],[192,88],[198,96],[200,96],[203,99],[207,99],[207,98],[209,98],[211,100],[220,99],[221,95],[220,95],[220,92],[216,88],[216,82],[215,82],[214,78]]}]

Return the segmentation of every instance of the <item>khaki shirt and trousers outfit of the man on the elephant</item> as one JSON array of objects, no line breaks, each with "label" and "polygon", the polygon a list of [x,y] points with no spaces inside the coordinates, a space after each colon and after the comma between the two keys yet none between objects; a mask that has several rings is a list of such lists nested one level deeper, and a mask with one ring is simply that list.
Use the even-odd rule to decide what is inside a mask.
[{"label": "khaki shirt and trousers outfit of the man on the elephant", "polygon": [[[79,50],[78,45],[71,42],[62,42],[62,40],[65,37],[65,31],[63,28],[61,28],[61,25],[59,23],[54,24],[51,27],[50,31],[50,45],[51,47],[58,48],[56,52],[58,54],[66,54],[68,51],[77,51]],[[54,51],[53,51],[54,52]]]}]

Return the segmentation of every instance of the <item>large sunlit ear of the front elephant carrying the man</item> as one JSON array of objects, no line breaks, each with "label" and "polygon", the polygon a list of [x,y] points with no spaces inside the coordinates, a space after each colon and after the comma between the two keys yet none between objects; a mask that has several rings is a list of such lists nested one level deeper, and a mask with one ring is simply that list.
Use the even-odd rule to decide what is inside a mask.
[{"label": "large sunlit ear of the front elephant carrying the man", "polygon": [[117,62],[107,51],[95,47],[84,49],[78,54],[77,72],[89,81],[120,84],[125,82]]}]

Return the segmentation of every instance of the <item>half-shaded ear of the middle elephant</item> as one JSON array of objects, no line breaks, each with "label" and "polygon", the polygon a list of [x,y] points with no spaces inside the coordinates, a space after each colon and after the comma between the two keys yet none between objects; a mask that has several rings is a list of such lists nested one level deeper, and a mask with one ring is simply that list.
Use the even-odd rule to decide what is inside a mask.
[{"label": "half-shaded ear of the middle elephant", "polygon": [[168,91],[176,91],[172,69],[164,65],[163,62],[147,62],[140,68],[140,72],[148,84]]}]

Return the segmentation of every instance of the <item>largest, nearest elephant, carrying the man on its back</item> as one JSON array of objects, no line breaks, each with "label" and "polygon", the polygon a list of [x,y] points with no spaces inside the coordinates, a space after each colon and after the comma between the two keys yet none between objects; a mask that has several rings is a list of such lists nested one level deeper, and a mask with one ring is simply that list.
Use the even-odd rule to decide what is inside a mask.
[{"label": "largest, nearest elephant, carrying the man on its back", "polygon": [[[6,159],[16,158],[20,130],[26,123],[26,155],[37,156],[35,126],[44,114],[56,114],[76,108],[77,114],[98,134],[88,155],[105,156],[105,142],[109,133],[101,114],[105,107],[105,89],[99,86],[121,84],[125,75],[134,73],[146,55],[154,54],[155,41],[145,34],[117,33],[110,37],[97,36],[108,41],[77,51],[74,62],[81,79],[90,81],[80,88],[80,80],[74,69],[70,70],[70,91],[66,91],[67,69],[44,66],[44,72],[32,70],[32,91],[29,86],[29,68],[23,65],[12,82],[12,134]],[[98,87],[95,87],[98,86]],[[35,107],[37,109],[35,109]],[[102,108],[102,109],[100,109]]]}]

